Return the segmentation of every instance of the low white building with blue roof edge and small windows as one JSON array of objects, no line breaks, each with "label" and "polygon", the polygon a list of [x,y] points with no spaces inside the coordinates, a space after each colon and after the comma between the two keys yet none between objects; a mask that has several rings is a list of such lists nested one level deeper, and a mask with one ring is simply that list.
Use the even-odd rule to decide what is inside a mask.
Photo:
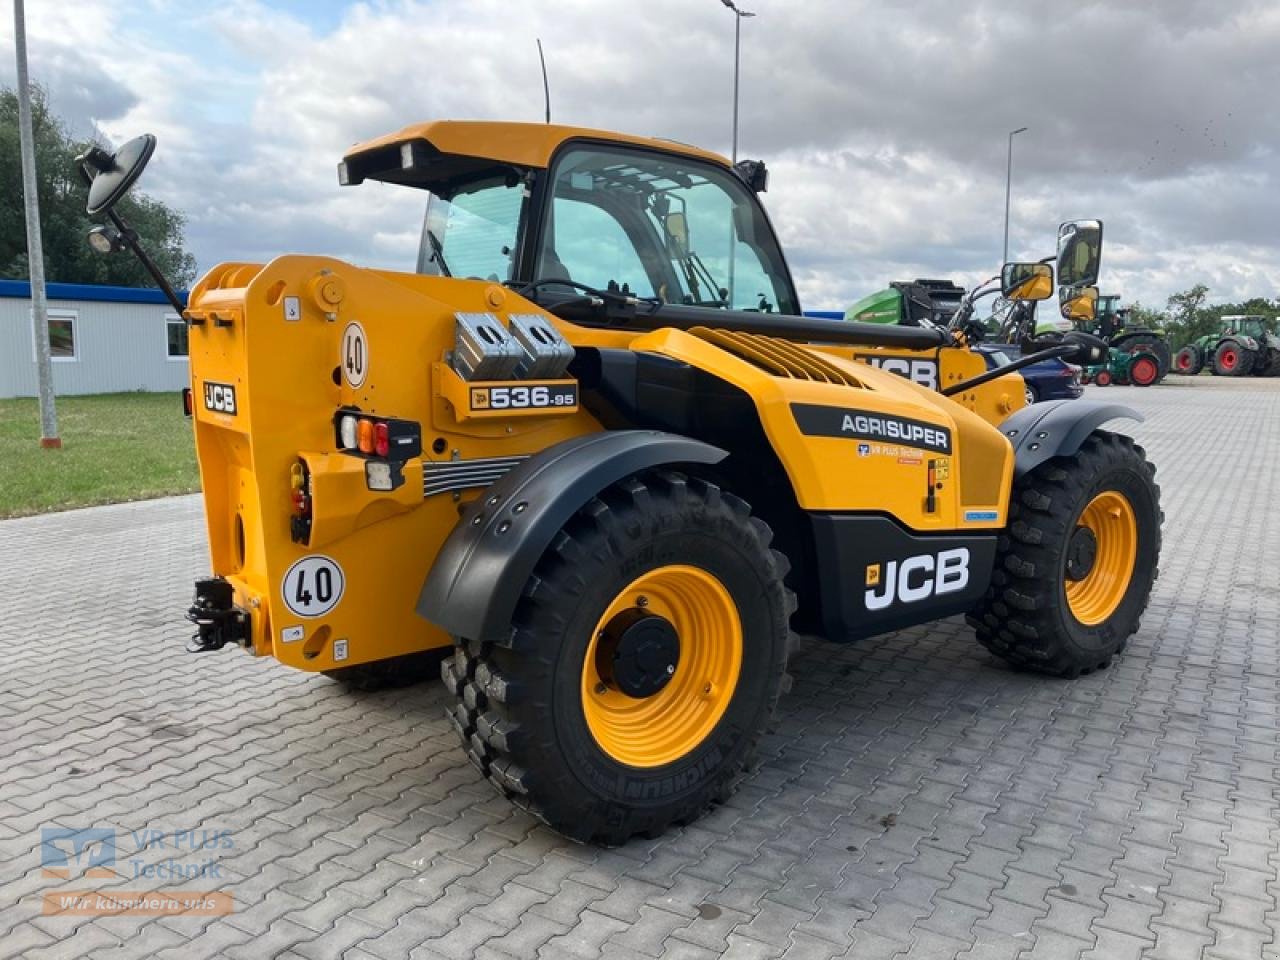
[{"label": "low white building with blue roof edge and small windows", "polygon": [[[180,390],[191,384],[187,326],[160,291],[50,283],[54,392]],[[178,294],[186,301],[186,292]],[[0,397],[36,396],[31,284],[0,280]]]}]

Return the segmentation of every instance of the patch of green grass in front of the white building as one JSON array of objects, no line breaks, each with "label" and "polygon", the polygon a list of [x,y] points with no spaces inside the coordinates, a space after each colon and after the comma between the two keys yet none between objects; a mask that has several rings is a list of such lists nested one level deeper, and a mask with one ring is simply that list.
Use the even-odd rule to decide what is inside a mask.
[{"label": "patch of green grass in front of the white building", "polygon": [[40,447],[33,398],[0,399],[0,517],[200,489],[177,393],[59,397],[61,449]]}]

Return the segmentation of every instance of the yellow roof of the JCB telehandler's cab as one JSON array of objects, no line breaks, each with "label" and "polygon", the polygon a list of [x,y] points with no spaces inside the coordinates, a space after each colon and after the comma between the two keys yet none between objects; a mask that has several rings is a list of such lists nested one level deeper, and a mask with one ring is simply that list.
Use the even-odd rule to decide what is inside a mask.
[{"label": "yellow roof of the JCB telehandler's cab", "polygon": [[673,140],[553,123],[429,120],[357,143],[338,165],[338,180],[348,186],[375,179],[431,189],[495,165],[545,169],[552,155],[570,140],[650,147],[730,166],[719,154]]}]

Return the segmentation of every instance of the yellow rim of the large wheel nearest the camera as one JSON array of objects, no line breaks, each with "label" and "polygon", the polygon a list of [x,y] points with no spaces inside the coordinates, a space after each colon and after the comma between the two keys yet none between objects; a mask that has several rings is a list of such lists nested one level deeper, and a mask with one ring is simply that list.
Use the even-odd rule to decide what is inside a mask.
[{"label": "yellow rim of the large wheel nearest the camera", "polygon": [[[664,618],[678,637],[675,672],[660,690],[630,696],[609,676],[611,625],[635,611]],[[595,625],[582,662],[582,712],[596,745],[628,767],[687,755],[724,716],[742,668],[742,622],[724,585],[672,564],[636,577]]]}]

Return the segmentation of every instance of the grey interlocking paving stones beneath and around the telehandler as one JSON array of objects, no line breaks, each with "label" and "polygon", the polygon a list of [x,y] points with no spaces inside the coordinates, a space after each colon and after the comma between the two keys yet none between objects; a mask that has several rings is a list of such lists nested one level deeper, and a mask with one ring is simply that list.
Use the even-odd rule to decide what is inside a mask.
[{"label": "grey interlocking paving stones beneath and around the telehandler", "polygon": [[[1115,666],[806,644],[732,801],[620,850],[495,796],[438,684],[183,653],[197,499],[0,524],[0,957],[1280,957],[1280,381],[1088,394],[1149,415],[1167,517]],[[116,876],[44,876],[42,827],[114,828]],[[92,888],[234,911],[41,914]]]}]

